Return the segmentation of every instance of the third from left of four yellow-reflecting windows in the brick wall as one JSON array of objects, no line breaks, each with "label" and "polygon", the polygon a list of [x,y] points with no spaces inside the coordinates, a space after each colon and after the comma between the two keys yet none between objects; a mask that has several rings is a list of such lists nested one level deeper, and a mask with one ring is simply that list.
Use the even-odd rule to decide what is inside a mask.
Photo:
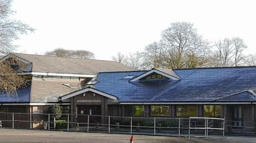
[{"label": "third from left of four yellow-reflecting windows in the brick wall", "polygon": [[196,105],[177,105],[176,116],[177,117],[195,117]]}]

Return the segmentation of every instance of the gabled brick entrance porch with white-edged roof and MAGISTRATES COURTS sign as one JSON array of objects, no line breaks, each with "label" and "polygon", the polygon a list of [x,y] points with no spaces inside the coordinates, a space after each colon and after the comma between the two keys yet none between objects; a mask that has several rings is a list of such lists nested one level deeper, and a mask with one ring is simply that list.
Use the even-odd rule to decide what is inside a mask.
[{"label": "gabled brick entrance porch with white-edged roof and MAGISTRATES COURTS sign", "polygon": [[[119,103],[116,96],[87,87],[60,98],[61,102],[71,103],[71,122],[86,123],[88,119],[91,123],[105,123],[100,116],[108,115],[108,103]],[[93,115],[88,118],[86,115]],[[81,124],[80,126],[86,124]]]}]

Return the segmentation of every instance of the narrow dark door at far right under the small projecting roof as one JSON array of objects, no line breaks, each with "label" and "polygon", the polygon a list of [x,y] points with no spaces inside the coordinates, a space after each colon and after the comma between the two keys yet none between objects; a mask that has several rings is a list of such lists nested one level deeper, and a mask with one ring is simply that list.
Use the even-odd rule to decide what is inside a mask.
[{"label": "narrow dark door at far right under the small projecting roof", "polygon": [[240,105],[235,105],[234,108],[233,108],[233,120],[234,120],[234,123],[233,125],[234,126],[242,126],[242,121],[243,121],[243,116],[242,116],[242,106]]}]

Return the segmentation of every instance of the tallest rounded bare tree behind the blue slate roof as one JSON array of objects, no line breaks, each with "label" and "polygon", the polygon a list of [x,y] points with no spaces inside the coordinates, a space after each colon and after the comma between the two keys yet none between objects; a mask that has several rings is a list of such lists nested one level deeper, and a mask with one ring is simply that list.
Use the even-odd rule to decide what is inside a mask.
[{"label": "tallest rounded bare tree behind the blue slate roof", "polygon": [[[209,42],[204,40],[193,24],[188,22],[172,23],[169,28],[162,31],[161,36],[158,44],[162,67],[165,68],[188,68],[186,61],[191,58],[191,55],[196,59],[205,59],[210,49]],[[194,66],[200,67],[201,65]]]}]

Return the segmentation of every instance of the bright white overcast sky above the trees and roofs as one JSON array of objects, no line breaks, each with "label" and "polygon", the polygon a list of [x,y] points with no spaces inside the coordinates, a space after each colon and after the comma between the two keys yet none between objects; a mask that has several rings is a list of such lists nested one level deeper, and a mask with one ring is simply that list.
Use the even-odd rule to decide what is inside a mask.
[{"label": "bright white overcast sky above the trees and roofs", "polygon": [[143,51],[178,21],[193,23],[210,41],[239,36],[246,53],[256,53],[253,0],[14,0],[12,9],[14,18],[36,29],[15,41],[22,53],[80,49],[111,60],[118,51]]}]

